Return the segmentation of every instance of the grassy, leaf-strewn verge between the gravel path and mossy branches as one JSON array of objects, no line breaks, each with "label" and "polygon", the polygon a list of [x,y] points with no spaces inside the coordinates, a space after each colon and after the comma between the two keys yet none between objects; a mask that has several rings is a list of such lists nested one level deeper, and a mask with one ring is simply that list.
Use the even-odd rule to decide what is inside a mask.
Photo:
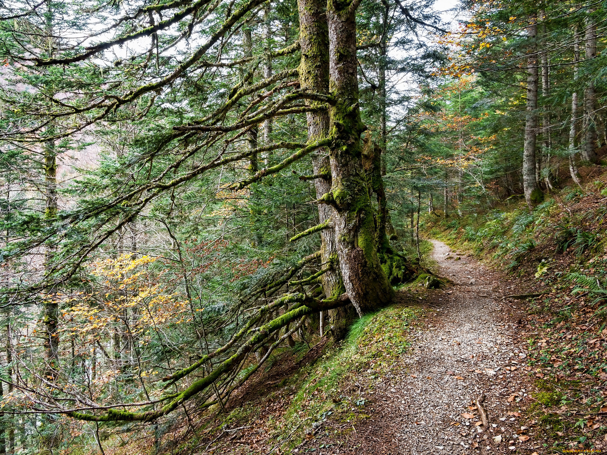
[{"label": "grassy, leaf-strewn verge between the gravel path and mossy branches", "polygon": [[[304,368],[296,393],[280,422],[276,441],[282,450],[296,447],[314,422],[328,419],[354,423],[364,412],[372,381],[398,360],[409,346],[407,334],[422,309],[392,306],[356,320],[341,346]],[[287,443],[287,437],[290,440]]]}]

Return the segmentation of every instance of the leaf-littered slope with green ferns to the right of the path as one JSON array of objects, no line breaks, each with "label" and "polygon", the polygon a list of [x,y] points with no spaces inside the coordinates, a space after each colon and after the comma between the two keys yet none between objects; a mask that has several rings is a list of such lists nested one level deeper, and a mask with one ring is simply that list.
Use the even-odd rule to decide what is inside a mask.
[{"label": "leaf-littered slope with green ferns to the right of the path", "polygon": [[560,449],[592,448],[591,439],[607,432],[605,201],[602,174],[549,195],[531,213],[514,201],[482,215],[424,221],[429,237],[510,275],[504,298],[524,301],[520,337],[538,389],[527,414]]}]

